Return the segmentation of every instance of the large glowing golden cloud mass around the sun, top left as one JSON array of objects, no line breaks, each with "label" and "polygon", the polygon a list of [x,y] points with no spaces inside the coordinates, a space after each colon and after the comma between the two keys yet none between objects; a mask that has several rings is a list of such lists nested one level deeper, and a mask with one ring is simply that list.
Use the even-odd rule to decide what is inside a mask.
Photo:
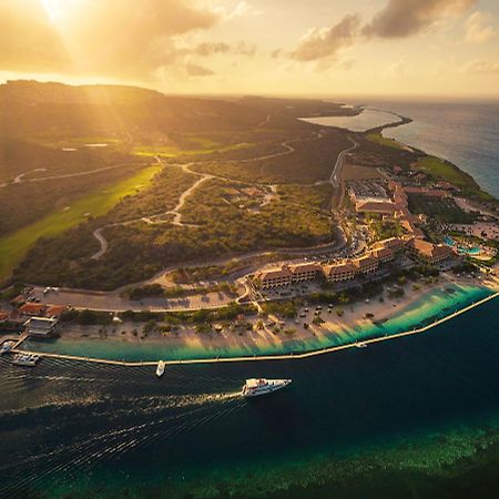
[{"label": "large glowing golden cloud mass around the sun, top left", "polygon": [[[45,2],[48,4],[49,2]],[[147,79],[177,58],[174,37],[206,30],[220,12],[194,0],[0,1],[0,67]]]}]

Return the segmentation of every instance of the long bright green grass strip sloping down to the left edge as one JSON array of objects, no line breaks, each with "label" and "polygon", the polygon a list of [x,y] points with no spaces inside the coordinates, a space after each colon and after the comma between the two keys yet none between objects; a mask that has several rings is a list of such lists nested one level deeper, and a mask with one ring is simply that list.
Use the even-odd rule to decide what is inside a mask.
[{"label": "long bright green grass strip sloping down to the left edge", "polygon": [[105,214],[122,197],[134,194],[141,187],[146,186],[161,169],[162,166],[159,165],[150,166],[114,185],[96,189],[94,192],[77,200],[69,210],[53,212],[0,238],[0,281],[10,276],[12,269],[21,262],[39,237],[53,236],[78,225],[86,220],[88,213],[93,217]]}]

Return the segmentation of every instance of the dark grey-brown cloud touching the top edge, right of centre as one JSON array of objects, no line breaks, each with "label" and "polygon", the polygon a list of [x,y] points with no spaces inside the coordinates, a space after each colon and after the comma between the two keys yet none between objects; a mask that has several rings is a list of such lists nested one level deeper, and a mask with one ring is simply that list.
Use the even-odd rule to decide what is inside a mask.
[{"label": "dark grey-brown cloud touching the top edge, right of centre", "polygon": [[464,13],[476,2],[477,0],[389,0],[363,31],[368,37],[410,37],[447,16]]}]

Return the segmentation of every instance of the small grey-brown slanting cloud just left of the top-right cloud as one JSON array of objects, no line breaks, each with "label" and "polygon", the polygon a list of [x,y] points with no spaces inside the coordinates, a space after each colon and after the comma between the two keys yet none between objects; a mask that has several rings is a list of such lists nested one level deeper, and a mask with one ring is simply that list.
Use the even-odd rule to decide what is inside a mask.
[{"label": "small grey-brown slanting cloud just left of the top-right cloud", "polygon": [[360,17],[358,14],[348,14],[332,28],[314,28],[305,33],[291,57],[297,61],[333,58],[339,50],[354,44],[359,28]]}]

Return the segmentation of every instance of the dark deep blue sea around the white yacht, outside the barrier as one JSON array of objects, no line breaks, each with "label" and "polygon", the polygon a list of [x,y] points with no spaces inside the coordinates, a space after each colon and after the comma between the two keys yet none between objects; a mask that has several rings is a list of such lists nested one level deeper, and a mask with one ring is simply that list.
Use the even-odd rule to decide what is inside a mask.
[{"label": "dark deep blue sea around the white yacht, outside the barrier", "polygon": [[[492,301],[365,349],[161,380],[1,358],[0,497],[469,497],[466,466],[490,466],[499,445],[498,313]],[[293,385],[246,401],[255,375]]]}]

